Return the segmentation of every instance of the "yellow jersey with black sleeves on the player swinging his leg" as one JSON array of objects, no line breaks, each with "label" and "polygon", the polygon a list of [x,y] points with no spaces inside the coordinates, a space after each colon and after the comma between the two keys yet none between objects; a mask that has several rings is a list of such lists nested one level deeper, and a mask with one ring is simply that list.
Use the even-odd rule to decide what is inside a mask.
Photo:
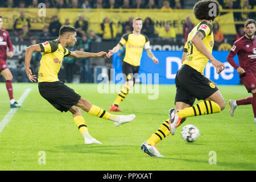
[{"label": "yellow jersey with black sleeves on the player swinging his leg", "polygon": [[38,69],[38,82],[59,81],[57,74],[64,56],[69,56],[70,51],[63,48],[59,40],[51,40],[39,44],[41,52],[43,52]]}]

